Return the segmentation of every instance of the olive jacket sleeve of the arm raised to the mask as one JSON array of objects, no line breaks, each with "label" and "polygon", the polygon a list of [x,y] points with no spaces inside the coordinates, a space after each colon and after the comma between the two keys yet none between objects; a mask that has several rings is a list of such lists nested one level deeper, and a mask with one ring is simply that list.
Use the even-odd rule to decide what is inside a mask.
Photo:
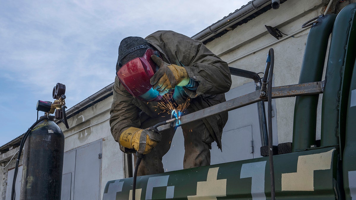
[{"label": "olive jacket sleeve of the arm raised to the mask", "polygon": [[189,60],[185,69],[189,77],[199,83],[196,95],[215,95],[230,90],[231,74],[229,66],[206,48],[203,43],[198,40],[192,41],[190,58],[191,60]]}]

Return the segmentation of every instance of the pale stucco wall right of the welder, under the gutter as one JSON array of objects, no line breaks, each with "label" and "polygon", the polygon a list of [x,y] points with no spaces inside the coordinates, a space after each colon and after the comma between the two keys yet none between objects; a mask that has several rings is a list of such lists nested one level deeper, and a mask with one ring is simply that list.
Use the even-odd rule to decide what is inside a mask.
[{"label": "pale stucco wall right of the welder, under the gutter", "polygon": [[[289,35],[302,29],[303,23],[323,14],[327,3],[328,1],[323,0],[286,1],[281,4],[278,10],[271,9],[263,13],[248,23],[242,24],[209,42],[206,46],[228,62],[230,67],[256,73],[264,72],[268,50],[273,48],[274,86],[298,84],[305,42],[310,29],[308,28],[293,37],[267,46],[277,39],[268,33],[265,25],[276,27]],[[235,62],[229,62],[264,46],[267,47]],[[236,76],[233,76],[232,80],[231,88],[251,81]],[[279,143],[292,142],[294,102],[294,97],[276,99]]]}]

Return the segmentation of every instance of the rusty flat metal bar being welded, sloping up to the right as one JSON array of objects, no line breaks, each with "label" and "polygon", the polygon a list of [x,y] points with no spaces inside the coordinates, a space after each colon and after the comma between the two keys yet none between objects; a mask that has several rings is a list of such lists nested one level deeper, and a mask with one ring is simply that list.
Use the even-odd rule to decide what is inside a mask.
[{"label": "rusty flat metal bar being welded, sloping up to the right", "polygon": [[[286,85],[272,88],[272,99],[284,98],[290,96],[302,96],[302,95],[312,95],[321,94],[324,90],[324,81],[303,83],[295,85]],[[263,99],[267,100],[267,99]],[[207,107],[205,109],[190,113],[188,115],[183,115],[180,117],[180,125],[184,125],[188,122],[197,121],[209,117],[212,115],[220,114],[222,112],[235,110],[237,108],[247,106],[253,103],[261,101],[260,91],[255,91],[243,96],[239,96],[235,99],[216,104],[214,106]],[[173,125],[175,127],[177,125]],[[167,130],[171,128],[170,124],[159,126],[157,129],[159,131]]]}]

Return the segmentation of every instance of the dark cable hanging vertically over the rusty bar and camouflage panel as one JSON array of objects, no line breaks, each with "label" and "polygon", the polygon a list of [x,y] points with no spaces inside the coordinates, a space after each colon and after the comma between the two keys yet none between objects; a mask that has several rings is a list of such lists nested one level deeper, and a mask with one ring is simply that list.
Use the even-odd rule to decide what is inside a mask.
[{"label": "dark cable hanging vertically over the rusty bar and camouflage panel", "polygon": [[[268,51],[268,57],[271,60],[268,72],[268,89],[267,89],[267,101],[268,101],[268,158],[269,158],[269,173],[271,174],[271,199],[276,199],[276,192],[274,188],[274,167],[273,167],[273,137],[272,137],[272,77],[274,66],[274,51],[270,48]],[[268,58],[267,58],[268,59]]]}]

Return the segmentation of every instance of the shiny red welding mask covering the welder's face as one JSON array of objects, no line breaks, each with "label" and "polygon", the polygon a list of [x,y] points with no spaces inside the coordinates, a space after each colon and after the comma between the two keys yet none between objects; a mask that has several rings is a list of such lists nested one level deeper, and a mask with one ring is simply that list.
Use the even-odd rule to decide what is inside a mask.
[{"label": "shiny red welding mask covering the welder's face", "polygon": [[152,55],[159,56],[157,51],[147,49],[142,57],[134,58],[122,65],[117,70],[116,75],[125,89],[137,99],[142,101],[167,101],[172,98],[173,89],[163,98],[150,84],[151,77],[158,70],[158,66],[151,59]]}]

